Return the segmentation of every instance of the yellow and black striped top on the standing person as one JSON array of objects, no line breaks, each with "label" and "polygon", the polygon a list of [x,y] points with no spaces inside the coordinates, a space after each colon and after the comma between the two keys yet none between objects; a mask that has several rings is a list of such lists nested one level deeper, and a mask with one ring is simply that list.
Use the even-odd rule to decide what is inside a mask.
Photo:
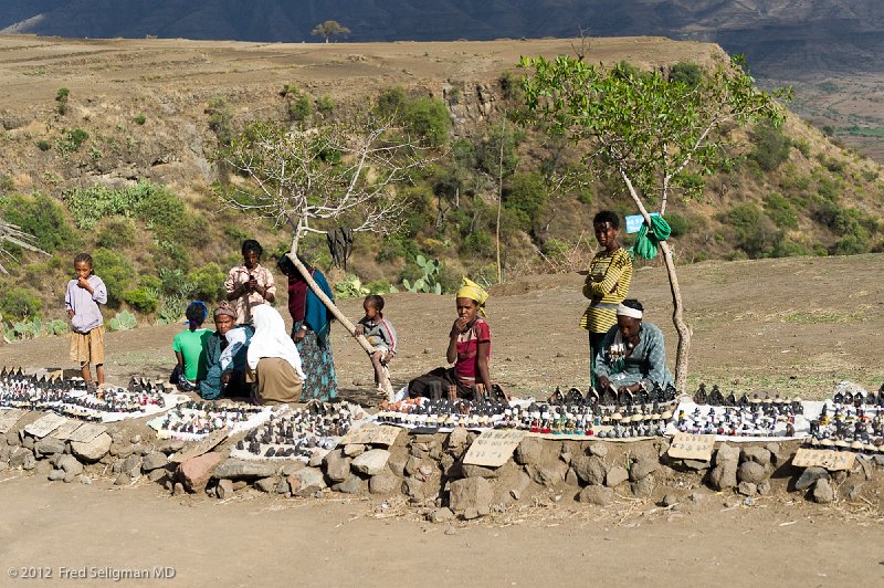
[{"label": "yellow and black striped top on the standing person", "polygon": [[583,283],[589,307],[580,317],[580,326],[590,333],[608,333],[617,324],[617,306],[623,302],[632,282],[632,258],[623,248],[613,253],[603,250],[592,258]]}]

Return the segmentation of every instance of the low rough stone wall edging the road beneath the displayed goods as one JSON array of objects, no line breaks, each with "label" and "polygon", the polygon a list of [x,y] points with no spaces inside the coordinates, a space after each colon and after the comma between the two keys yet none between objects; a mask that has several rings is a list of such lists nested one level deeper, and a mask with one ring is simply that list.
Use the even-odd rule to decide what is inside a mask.
[{"label": "low rough stone wall edging the road beneath the displayed goods", "polygon": [[[677,498],[680,489],[705,483],[745,500],[772,491],[803,492],[829,503],[857,500],[884,459],[857,460],[850,472],[791,464],[796,444],[722,443],[709,461],[671,460],[664,440],[619,444],[606,441],[554,441],[526,438],[499,468],[464,463],[477,434],[459,428],[450,434],[408,434],[390,445],[348,444],[307,463],[249,461],[229,456],[233,440],[181,462],[190,444],[161,441],[149,429],[113,426],[87,443],[24,430],[0,434],[0,471],[33,471],[52,481],[92,483],[95,477],[126,485],[139,479],[173,494],[206,493],[227,500],[244,489],[284,496],[330,493],[403,495],[428,519],[488,515],[538,494],[572,495],[606,507],[618,496]],[[179,463],[180,462],[180,463]]]}]

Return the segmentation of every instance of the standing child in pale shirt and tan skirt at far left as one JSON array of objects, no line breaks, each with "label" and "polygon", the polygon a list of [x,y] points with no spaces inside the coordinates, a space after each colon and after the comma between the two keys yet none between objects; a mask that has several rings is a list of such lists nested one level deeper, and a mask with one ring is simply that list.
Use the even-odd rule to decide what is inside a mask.
[{"label": "standing child in pale shirt and tan skirt at far left", "polygon": [[83,379],[92,381],[90,364],[95,364],[95,379],[104,384],[104,318],[99,304],[107,304],[107,287],[95,275],[92,255],[74,258],[76,277],[67,282],[64,307],[71,318],[71,361],[78,361]]}]

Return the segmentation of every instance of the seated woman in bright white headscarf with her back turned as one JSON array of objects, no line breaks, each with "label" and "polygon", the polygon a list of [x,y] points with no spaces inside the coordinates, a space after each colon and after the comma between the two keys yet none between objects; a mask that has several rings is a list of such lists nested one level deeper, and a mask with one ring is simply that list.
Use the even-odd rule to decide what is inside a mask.
[{"label": "seated woman in bright white headscarf with her back turned", "polygon": [[255,334],[249,345],[249,369],[255,375],[260,405],[297,402],[304,388],[301,356],[285,330],[283,317],[272,306],[252,308]]}]

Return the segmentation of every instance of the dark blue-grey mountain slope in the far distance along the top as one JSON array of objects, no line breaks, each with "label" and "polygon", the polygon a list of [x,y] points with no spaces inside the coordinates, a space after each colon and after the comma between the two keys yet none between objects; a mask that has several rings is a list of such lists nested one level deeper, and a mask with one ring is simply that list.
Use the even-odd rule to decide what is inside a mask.
[{"label": "dark blue-grey mountain slope in the far distance along the top", "polygon": [[[67,38],[351,41],[661,35],[745,53],[762,75],[884,71],[881,0],[6,0],[0,32]],[[788,74],[788,75],[783,75]]]}]

